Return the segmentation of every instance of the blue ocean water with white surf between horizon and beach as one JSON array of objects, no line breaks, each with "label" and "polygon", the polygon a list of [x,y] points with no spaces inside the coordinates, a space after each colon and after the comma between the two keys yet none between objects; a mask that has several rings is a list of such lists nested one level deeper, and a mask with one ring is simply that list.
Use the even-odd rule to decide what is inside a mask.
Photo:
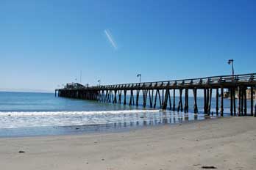
[{"label": "blue ocean water with white surf between horizon and beach", "polygon": [[[178,97],[176,106],[177,103]],[[213,97],[213,112],[216,111],[215,106],[216,99]],[[230,100],[224,99],[224,116],[229,115],[229,106]],[[249,101],[247,106],[249,109]],[[0,92],[0,137],[128,130],[206,119],[202,113],[203,97],[198,98],[198,107],[199,114],[193,114],[193,97],[189,98],[189,113],[184,114],[162,111],[159,106],[155,109],[124,106],[55,97],[54,93]],[[216,114],[211,116],[216,117]]]}]

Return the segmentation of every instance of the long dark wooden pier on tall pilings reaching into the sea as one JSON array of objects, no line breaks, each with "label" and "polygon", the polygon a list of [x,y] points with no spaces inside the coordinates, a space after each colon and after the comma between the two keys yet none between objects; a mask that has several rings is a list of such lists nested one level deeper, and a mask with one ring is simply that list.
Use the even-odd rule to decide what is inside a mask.
[{"label": "long dark wooden pier on tall pilings reaching into the sea", "polygon": [[[247,113],[246,90],[251,90],[250,113]],[[256,73],[243,75],[220,75],[206,78],[191,78],[174,81],[157,81],[134,84],[115,84],[107,86],[82,86],[82,84],[67,84],[63,89],[56,89],[55,96],[71,97],[84,100],[98,100],[104,103],[118,103],[124,105],[142,105],[156,108],[157,103],[162,109],[188,112],[189,91],[193,94],[193,112],[198,113],[197,93],[202,90],[204,95],[204,112],[210,115],[213,90],[216,91],[216,114],[224,114],[224,90],[230,92],[231,116],[255,116],[256,102]],[[129,96],[127,95],[129,92]],[[184,93],[184,95],[183,95]],[[235,95],[238,103],[235,103]],[[176,96],[177,95],[177,96]],[[143,97],[139,103],[139,97]],[[128,97],[128,100],[127,100]],[[175,97],[179,102],[175,103]],[[184,105],[182,103],[184,98]],[[220,98],[220,101],[219,101]],[[220,104],[220,106],[219,106]],[[220,108],[219,108],[220,107]]]}]

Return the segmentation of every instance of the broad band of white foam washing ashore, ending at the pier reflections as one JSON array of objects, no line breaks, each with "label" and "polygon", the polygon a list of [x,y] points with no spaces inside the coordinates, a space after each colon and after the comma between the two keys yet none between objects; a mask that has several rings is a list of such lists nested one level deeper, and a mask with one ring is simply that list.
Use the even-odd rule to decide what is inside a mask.
[{"label": "broad band of white foam washing ashore, ending at the pier reflections", "polygon": [[142,116],[160,113],[160,110],[0,112],[0,128],[134,122],[143,121]]}]

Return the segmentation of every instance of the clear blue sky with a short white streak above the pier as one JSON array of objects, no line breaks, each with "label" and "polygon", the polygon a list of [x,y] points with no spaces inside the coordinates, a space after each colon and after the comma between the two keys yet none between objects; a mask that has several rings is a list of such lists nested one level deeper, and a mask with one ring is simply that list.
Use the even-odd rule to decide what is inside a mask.
[{"label": "clear blue sky with a short white streak above the pier", "polygon": [[0,0],[0,89],[256,73],[256,1]]}]

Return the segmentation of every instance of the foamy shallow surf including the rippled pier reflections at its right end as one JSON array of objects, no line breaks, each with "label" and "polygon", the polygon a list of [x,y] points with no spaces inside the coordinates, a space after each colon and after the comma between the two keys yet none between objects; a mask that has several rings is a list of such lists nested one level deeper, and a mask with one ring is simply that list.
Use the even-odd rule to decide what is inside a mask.
[{"label": "foamy shallow surf including the rippled pier reflections at its right end", "polygon": [[[0,112],[0,129],[17,127],[53,127],[73,125],[118,125],[131,122],[144,125],[158,125],[161,122],[177,123],[193,120],[194,115],[176,111],[161,110],[119,110],[119,111],[10,111]],[[202,119],[198,117],[196,119]]]}]

